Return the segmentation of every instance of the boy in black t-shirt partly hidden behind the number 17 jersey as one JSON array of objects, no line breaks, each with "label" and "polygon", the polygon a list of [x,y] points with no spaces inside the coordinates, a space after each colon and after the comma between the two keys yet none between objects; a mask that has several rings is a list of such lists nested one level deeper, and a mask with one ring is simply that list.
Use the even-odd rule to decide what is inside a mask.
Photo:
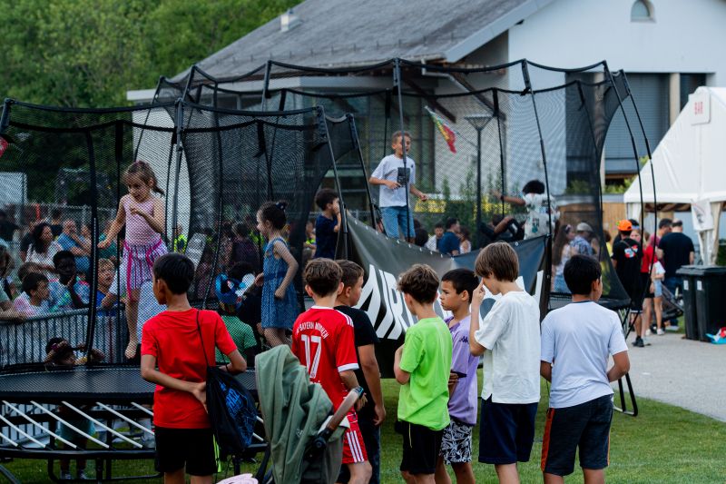
[{"label": "boy in black t-shirt partly hidden behind the number 17 jersey", "polygon": [[[353,321],[358,355],[358,384],[366,392],[368,401],[358,410],[358,427],[366,445],[368,462],[372,468],[369,482],[380,481],[380,424],[386,419],[386,407],[383,404],[383,393],[380,389],[380,370],[376,360],[375,345],[378,335],[368,319],[368,313],[351,306],[358,304],[360,291],[363,288],[363,268],[356,262],[336,261],[343,270],[343,291],[338,294],[335,309],[347,314]],[[348,467],[340,468],[337,482],[348,482]]]}]

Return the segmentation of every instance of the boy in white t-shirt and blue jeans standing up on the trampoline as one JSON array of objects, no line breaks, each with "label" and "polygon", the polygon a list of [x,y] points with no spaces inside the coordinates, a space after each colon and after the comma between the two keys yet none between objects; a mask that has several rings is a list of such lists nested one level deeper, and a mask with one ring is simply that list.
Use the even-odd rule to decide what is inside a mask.
[{"label": "boy in white t-shirt and blue jeans standing up on the trampoline", "polygon": [[[403,159],[404,144],[405,163]],[[411,135],[400,131],[393,133],[391,148],[393,148],[393,154],[389,154],[380,161],[376,170],[371,173],[368,182],[372,185],[380,185],[378,206],[383,215],[383,228],[386,235],[397,239],[400,225],[407,241],[413,243],[416,235],[413,208],[408,206],[410,197],[406,196],[406,191],[417,196],[422,202],[427,201],[428,197],[425,193],[420,192],[413,183],[413,180],[416,179],[416,162],[408,156],[411,149]]]}]

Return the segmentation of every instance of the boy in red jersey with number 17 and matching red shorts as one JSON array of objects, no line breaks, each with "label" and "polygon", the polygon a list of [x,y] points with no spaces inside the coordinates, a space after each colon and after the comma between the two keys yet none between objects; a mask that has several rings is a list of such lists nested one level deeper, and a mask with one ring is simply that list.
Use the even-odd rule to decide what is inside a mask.
[{"label": "boy in red jersey with number 17 and matching red shorts", "polygon": [[[335,307],[343,271],[330,259],[315,259],[305,267],[305,291],[315,301],[299,315],[292,327],[292,352],[308,369],[310,381],[319,383],[333,403],[333,410],[358,387],[358,370],[353,321]],[[359,410],[365,404],[361,397]],[[343,438],[343,464],[350,471],[349,484],[367,483],[371,476],[366,446],[358,428],[355,410],[348,413],[350,428]]]}]

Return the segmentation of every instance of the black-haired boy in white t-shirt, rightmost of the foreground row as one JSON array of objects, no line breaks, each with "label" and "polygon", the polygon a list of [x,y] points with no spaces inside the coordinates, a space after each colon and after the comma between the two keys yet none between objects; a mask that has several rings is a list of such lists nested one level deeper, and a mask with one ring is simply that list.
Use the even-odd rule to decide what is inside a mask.
[{"label": "black-haired boy in white t-shirt, rightmost of the foreground row", "polygon": [[[564,265],[572,303],[542,322],[542,376],[552,381],[542,441],[544,482],[564,483],[575,450],[585,482],[604,482],[608,465],[613,389],[630,370],[628,347],[615,312],[597,304],[603,294],[600,262],[574,255]],[[607,370],[608,357],[614,365]]]}]

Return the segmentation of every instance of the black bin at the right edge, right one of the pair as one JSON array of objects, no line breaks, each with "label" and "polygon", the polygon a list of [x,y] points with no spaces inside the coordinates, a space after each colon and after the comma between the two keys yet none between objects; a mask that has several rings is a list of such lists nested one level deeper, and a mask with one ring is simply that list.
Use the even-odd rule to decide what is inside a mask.
[{"label": "black bin at the right edge, right one of the pair", "polygon": [[700,273],[693,276],[696,286],[696,316],[698,339],[710,341],[706,333],[714,334],[726,326],[726,267],[718,265],[699,266]]}]

